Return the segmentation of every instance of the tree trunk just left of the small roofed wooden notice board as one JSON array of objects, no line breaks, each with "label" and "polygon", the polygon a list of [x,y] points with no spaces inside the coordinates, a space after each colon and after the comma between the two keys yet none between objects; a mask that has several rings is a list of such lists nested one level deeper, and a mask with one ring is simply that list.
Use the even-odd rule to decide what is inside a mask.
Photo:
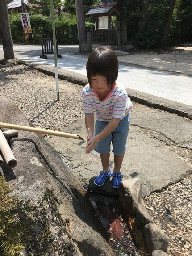
[{"label": "tree trunk just left of the small roofed wooden notice board", "polygon": [[86,53],[87,52],[87,43],[86,43],[86,30],[85,30],[83,0],[75,0],[75,8],[76,8],[76,15],[77,15],[79,53]]}]

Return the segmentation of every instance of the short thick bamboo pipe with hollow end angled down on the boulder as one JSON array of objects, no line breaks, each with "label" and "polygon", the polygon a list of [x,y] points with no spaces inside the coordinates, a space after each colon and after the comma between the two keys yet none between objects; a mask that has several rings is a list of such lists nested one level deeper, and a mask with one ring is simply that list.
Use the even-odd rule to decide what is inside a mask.
[{"label": "short thick bamboo pipe with hollow end angled down on the boulder", "polygon": [[4,156],[7,166],[10,168],[16,167],[17,160],[15,159],[13,152],[8,145],[8,142],[4,137],[2,130],[0,130],[0,151]]}]

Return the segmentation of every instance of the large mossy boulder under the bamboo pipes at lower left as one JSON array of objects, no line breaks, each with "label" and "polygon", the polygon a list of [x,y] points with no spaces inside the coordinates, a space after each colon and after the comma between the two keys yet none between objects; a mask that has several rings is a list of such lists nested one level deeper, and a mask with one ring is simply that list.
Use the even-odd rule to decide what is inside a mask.
[{"label": "large mossy boulder under the bamboo pipes at lower left", "polygon": [[[1,122],[29,126],[25,115],[7,99],[0,98],[0,117]],[[0,206],[0,212],[7,216],[9,210],[17,234],[10,233],[7,222],[0,222],[5,234],[2,243],[6,241],[17,252],[25,248],[26,255],[114,255],[100,235],[100,224],[79,179],[42,135],[19,130],[18,137],[9,138],[8,143],[18,164],[13,169],[1,166],[5,178],[0,178],[0,189],[7,187],[3,198],[7,207]]]}]

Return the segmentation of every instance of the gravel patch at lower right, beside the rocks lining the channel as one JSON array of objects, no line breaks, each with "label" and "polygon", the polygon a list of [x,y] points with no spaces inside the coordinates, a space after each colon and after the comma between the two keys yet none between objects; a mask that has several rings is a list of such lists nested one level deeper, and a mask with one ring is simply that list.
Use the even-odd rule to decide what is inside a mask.
[{"label": "gravel patch at lower right, beside the rocks lining the channel", "polygon": [[192,175],[145,198],[154,223],[169,238],[169,255],[192,256]]}]

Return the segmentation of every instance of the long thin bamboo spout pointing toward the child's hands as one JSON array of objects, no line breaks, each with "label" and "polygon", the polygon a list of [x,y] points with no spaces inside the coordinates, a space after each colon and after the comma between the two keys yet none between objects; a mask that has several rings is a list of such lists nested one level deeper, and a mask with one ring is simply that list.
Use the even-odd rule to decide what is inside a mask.
[{"label": "long thin bamboo spout pointing toward the child's hands", "polygon": [[35,132],[35,133],[49,134],[49,135],[60,136],[60,137],[65,137],[65,138],[75,138],[75,139],[80,139],[80,140],[84,141],[84,139],[82,137],[80,137],[79,135],[65,133],[65,132],[61,132],[61,131],[46,130],[46,129],[29,127],[29,126],[19,126],[19,125],[13,125],[13,124],[8,124],[8,123],[1,123],[1,122],[0,122],[0,127],[30,131],[30,132]]}]

